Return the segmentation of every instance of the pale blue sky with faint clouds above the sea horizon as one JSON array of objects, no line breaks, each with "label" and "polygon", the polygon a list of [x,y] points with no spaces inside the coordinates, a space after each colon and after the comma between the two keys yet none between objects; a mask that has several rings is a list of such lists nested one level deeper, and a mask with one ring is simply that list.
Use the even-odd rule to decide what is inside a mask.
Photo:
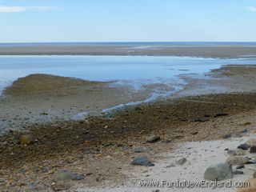
[{"label": "pale blue sky with faint clouds above the sea horizon", "polygon": [[0,42],[256,42],[255,0],[0,0]]}]

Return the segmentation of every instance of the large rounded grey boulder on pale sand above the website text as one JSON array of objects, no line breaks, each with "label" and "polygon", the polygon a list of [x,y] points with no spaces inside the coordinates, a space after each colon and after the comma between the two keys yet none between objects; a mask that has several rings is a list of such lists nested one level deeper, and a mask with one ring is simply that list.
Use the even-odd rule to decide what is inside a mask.
[{"label": "large rounded grey boulder on pale sand above the website text", "polygon": [[209,166],[206,169],[204,178],[210,181],[221,181],[233,178],[232,166],[226,162]]}]

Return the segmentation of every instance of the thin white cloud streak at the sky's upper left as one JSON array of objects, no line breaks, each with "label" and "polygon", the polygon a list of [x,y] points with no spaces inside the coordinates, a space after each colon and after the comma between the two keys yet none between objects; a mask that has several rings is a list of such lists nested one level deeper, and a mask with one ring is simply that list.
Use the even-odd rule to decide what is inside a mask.
[{"label": "thin white cloud streak at the sky's upper left", "polygon": [[14,12],[23,12],[27,10],[56,10],[56,7],[53,6],[0,6],[0,13],[14,13]]}]

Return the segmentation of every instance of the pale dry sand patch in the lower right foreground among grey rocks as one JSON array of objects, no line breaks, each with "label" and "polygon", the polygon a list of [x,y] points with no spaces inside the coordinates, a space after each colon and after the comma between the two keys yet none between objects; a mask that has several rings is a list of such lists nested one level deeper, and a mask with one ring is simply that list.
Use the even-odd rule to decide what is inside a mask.
[{"label": "pale dry sand patch in the lower right foreground among grey rocks", "polygon": [[[255,132],[255,131],[254,131]],[[203,181],[203,175],[206,167],[211,166],[214,163],[226,162],[229,155],[226,153],[226,148],[235,150],[241,143],[246,142],[250,138],[255,138],[255,134],[250,136],[244,136],[242,138],[230,138],[226,140],[215,141],[203,141],[203,142],[182,142],[178,143],[172,148],[171,152],[165,152],[160,154],[154,154],[155,166],[142,167],[133,166],[130,170],[122,170],[123,174],[129,175],[129,179],[124,186],[109,185],[104,188],[78,188],[78,192],[93,192],[93,191],[183,191],[183,192],[200,192],[200,191],[227,191],[232,192],[237,190],[235,187],[223,186],[211,189],[209,187],[170,187],[166,186],[163,182],[163,186],[140,186],[140,182],[159,182],[162,181],[175,182],[175,181],[187,181],[187,182],[200,182]],[[166,147],[166,146],[165,146]],[[152,156],[152,155],[151,155]],[[255,155],[246,153],[247,157],[255,158]],[[176,162],[186,158],[184,165],[178,165]],[[174,166],[170,166],[174,165]],[[170,166],[170,167],[168,167]],[[233,166],[235,170],[236,166]],[[234,175],[231,179],[231,183],[246,181],[254,174],[255,165],[246,165],[245,169],[242,169],[244,174]],[[230,182],[230,181],[226,181]],[[168,184],[167,184],[168,185]]]}]

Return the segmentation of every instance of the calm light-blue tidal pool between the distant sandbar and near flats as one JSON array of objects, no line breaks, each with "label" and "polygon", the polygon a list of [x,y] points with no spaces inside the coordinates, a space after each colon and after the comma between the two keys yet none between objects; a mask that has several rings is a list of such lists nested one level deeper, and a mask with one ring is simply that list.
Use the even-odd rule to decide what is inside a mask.
[{"label": "calm light-blue tidal pool between the distant sandbar and near flats", "polygon": [[[0,91],[29,74],[54,74],[89,81],[113,81],[140,90],[162,83],[180,87],[180,74],[203,74],[222,65],[255,64],[256,58],[154,56],[0,56]],[[164,94],[164,93],[162,93]]]}]

